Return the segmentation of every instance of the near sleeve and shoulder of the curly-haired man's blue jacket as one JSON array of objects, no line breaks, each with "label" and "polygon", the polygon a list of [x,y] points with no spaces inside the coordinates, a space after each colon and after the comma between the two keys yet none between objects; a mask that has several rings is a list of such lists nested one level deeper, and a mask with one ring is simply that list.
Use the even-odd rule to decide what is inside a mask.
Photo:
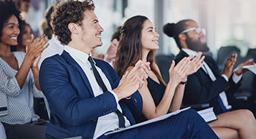
[{"label": "near sleeve and shoulder of the curly-haired man's blue jacket", "polygon": [[69,76],[67,68],[63,61],[54,60],[54,57],[45,59],[41,65],[39,83],[51,114],[65,124],[78,126],[117,110],[116,100],[110,92],[93,98],[89,88],[78,80],[80,74],[74,71]]}]

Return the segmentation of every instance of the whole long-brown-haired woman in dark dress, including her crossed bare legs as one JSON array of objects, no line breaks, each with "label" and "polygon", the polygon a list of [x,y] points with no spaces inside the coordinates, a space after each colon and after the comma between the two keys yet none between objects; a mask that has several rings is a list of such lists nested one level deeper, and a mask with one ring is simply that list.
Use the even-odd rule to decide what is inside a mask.
[{"label": "whole long-brown-haired woman in dark dress, including her crossed bare legs", "polygon": [[[176,66],[173,61],[169,69],[170,80],[165,85],[159,68],[154,63],[154,51],[159,48],[158,38],[159,34],[153,23],[144,16],[129,18],[121,28],[114,65],[118,76],[130,71],[137,60],[151,63],[148,79],[139,89],[143,98],[143,114],[136,117],[137,122],[178,110],[181,107],[187,76],[195,73],[203,65],[204,57],[200,58],[202,52],[198,52],[193,59],[192,55],[184,57]],[[208,124],[219,138],[255,138],[256,124],[252,114],[238,110],[220,114],[217,118]]]}]

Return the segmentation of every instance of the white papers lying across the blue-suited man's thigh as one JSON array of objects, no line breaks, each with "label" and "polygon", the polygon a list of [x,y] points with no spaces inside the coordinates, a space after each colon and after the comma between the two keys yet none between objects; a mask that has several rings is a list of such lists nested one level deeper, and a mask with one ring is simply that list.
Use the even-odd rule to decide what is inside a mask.
[{"label": "white papers lying across the blue-suited man's thigh", "polygon": [[135,127],[140,127],[140,126],[143,126],[143,125],[146,125],[146,124],[151,124],[151,123],[153,123],[153,122],[158,122],[158,121],[160,121],[160,120],[167,119],[167,118],[170,117],[170,116],[176,115],[176,114],[180,113],[181,111],[186,111],[186,110],[189,109],[189,108],[191,108],[191,107],[182,108],[182,109],[180,109],[180,110],[178,110],[178,111],[173,111],[173,112],[170,113],[170,114],[165,114],[165,115],[163,115],[163,116],[159,116],[159,117],[157,117],[157,118],[150,119],[150,120],[147,120],[147,121],[145,121],[145,122],[140,122],[140,123],[138,123],[138,124],[133,124],[132,126],[125,127],[125,128],[121,128],[120,130],[115,130],[115,131],[112,131],[112,132],[107,132],[107,133],[105,133],[105,135],[110,135],[110,134],[114,134],[114,133],[116,133],[116,132],[122,132],[122,131],[124,131],[124,130],[129,130],[129,129],[132,129],[132,128],[135,128]]}]

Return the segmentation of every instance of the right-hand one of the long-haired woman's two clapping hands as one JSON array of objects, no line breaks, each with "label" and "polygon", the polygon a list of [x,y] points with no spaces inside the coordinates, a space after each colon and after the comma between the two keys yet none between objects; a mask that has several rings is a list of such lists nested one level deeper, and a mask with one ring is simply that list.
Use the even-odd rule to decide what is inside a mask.
[{"label": "right-hand one of the long-haired woman's two clapping hands", "polygon": [[192,60],[190,60],[189,71],[187,71],[187,76],[194,74],[195,72],[197,72],[199,68],[202,67],[205,56],[201,57],[201,55],[202,52],[198,52],[198,54]]}]

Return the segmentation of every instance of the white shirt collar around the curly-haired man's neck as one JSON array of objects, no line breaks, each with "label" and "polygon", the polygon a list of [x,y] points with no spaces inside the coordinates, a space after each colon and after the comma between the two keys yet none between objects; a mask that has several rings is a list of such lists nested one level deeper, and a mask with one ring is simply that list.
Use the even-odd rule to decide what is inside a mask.
[{"label": "white shirt collar around the curly-haired man's neck", "polygon": [[86,61],[88,60],[89,55],[87,55],[85,52],[82,52],[78,49],[65,45],[64,50],[67,51],[69,55],[71,55],[75,60],[79,60],[83,64],[85,64]]}]

